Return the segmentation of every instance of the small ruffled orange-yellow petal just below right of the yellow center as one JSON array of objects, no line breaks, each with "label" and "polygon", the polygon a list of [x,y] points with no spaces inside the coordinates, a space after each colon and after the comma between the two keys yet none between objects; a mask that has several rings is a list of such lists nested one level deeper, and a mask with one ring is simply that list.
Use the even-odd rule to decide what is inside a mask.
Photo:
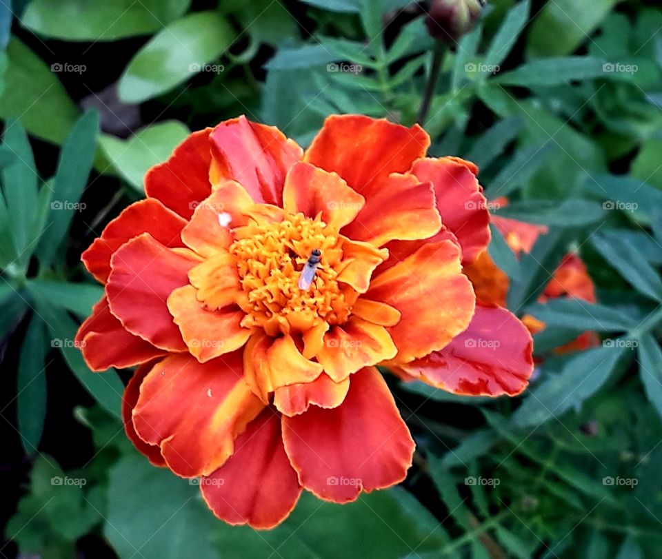
[{"label": "small ruffled orange-yellow petal just below right of the yellow center", "polygon": [[397,352],[385,327],[351,316],[324,335],[317,360],[324,372],[339,383],[363,367],[394,358]]}]

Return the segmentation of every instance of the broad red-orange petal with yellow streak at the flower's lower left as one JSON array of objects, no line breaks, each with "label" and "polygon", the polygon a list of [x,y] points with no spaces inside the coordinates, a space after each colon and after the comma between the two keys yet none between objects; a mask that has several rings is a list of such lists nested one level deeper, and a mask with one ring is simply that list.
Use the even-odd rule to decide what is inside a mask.
[{"label": "broad red-orange petal with yellow streak at the flower's lower left", "polygon": [[203,476],[232,455],[234,439],[263,407],[243,381],[240,352],[204,364],[181,354],[147,374],[133,425],[142,440],[161,446],[175,474]]}]

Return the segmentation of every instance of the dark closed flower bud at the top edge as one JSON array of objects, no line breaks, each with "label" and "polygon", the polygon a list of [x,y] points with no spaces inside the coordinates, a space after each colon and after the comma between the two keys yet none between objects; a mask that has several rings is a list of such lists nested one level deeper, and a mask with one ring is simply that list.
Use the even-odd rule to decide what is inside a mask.
[{"label": "dark closed flower bud at the top edge", "polygon": [[435,39],[454,45],[470,32],[485,0],[432,0],[425,25]]}]

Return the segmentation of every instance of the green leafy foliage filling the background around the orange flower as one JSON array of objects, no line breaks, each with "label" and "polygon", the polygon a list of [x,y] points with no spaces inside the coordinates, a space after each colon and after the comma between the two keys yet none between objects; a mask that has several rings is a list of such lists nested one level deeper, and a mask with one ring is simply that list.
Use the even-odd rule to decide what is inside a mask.
[{"label": "green leafy foliage filling the background around the orange flower", "polygon": [[[302,145],[332,113],[410,125],[430,73],[425,10],[406,0],[0,0],[2,556],[658,554],[656,1],[493,0],[445,53],[425,122],[431,153],[476,162],[488,198],[510,199],[500,215],[550,227],[519,260],[496,232],[490,246],[510,277],[510,309],[547,328],[518,398],[389,379],[418,443],[402,487],[343,507],[305,495],[274,531],[228,527],[197,487],[148,465],[123,436],[128,373],[91,374],[74,347],[101,294],[81,251],[143,196],[151,165],[190,130],[237,114]],[[599,303],[536,303],[568,250],[588,264]],[[587,330],[605,342],[552,352]]]}]

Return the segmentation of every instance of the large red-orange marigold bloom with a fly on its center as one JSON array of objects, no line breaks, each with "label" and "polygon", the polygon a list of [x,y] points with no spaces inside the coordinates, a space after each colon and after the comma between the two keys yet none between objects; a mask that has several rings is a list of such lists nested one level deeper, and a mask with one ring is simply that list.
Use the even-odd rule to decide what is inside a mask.
[{"label": "large red-orange marigold bloom with a fly on its center", "polygon": [[376,365],[457,394],[518,394],[532,340],[476,303],[490,240],[477,168],[430,139],[330,116],[305,152],[240,117],[191,134],[83,254],[105,296],[90,368],[139,365],[126,431],[202,476],[231,524],[279,524],[303,488],[348,502],[401,482],[414,441]]}]

